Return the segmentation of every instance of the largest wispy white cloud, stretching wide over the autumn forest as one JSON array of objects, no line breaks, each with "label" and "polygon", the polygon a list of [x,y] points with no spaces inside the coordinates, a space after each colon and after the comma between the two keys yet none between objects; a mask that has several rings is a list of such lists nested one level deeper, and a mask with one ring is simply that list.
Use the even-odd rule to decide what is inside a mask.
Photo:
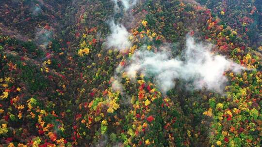
[{"label": "largest wispy white cloud, stretching wide over the autumn forest", "polygon": [[193,80],[195,89],[205,87],[222,93],[227,82],[223,73],[227,70],[238,73],[245,68],[224,56],[213,54],[211,48],[211,44],[196,43],[188,37],[181,58],[172,58],[165,51],[137,51],[125,71],[130,77],[135,77],[138,71],[153,77],[164,93],[174,88],[175,79]]}]

